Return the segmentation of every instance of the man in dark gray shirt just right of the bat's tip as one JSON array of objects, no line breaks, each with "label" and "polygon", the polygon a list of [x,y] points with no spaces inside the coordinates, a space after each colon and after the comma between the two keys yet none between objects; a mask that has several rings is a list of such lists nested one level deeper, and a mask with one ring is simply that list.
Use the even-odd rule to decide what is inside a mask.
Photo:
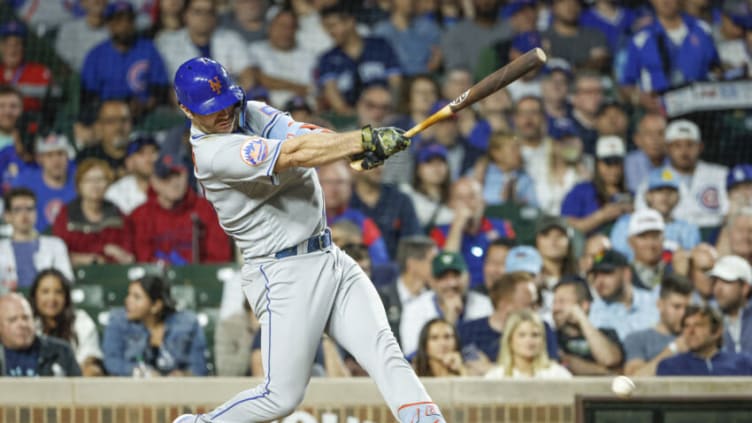
[{"label": "man in dark gray shirt just right of the bat's tip", "polygon": [[580,26],[581,12],[577,0],[553,0],[553,22],[542,34],[544,50],[575,69],[603,69],[609,58],[606,38],[596,29]]}]

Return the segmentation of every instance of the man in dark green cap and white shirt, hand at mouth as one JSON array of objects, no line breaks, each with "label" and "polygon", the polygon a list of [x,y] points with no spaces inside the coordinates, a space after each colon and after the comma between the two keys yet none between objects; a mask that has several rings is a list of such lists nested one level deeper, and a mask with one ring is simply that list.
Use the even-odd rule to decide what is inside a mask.
[{"label": "man in dark green cap and white shirt, hand at mouth", "polygon": [[420,330],[429,320],[442,317],[456,325],[488,317],[493,311],[488,297],[468,291],[469,275],[461,255],[440,252],[431,263],[431,271],[431,290],[421,294],[402,310],[400,345],[407,356],[415,353]]}]

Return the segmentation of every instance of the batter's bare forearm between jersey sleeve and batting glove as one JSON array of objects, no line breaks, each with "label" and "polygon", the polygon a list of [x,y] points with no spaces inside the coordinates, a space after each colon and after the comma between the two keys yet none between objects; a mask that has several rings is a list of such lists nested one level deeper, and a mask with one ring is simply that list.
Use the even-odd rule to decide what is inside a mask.
[{"label": "batter's bare forearm between jersey sleeve and batting glove", "polygon": [[292,167],[318,167],[363,152],[360,131],[316,133],[282,143],[274,172]]}]

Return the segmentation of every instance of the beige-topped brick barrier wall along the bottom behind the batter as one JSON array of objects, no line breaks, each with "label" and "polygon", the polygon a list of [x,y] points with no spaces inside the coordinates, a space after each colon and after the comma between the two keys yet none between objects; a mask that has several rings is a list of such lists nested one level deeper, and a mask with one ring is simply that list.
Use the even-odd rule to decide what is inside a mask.
[{"label": "beige-topped brick barrier wall along the bottom behind the batter", "polygon": [[[4,379],[0,380],[0,423],[170,423],[186,411],[211,410],[258,382],[248,378]],[[615,398],[610,393],[611,378],[457,378],[424,383],[450,423],[576,423],[577,398]],[[752,378],[638,378],[635,384],[634,396],[619,401],[746,397],[746,404],[752,404]],[[373,382],[348,378],[313,379],[303,404],[279,422],[394,421]]]}]

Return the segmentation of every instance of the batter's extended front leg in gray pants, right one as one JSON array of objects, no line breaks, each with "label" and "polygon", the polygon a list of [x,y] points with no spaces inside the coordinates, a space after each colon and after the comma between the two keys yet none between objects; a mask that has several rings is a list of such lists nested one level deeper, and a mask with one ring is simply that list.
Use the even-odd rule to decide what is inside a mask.
[{"label": "batter's extended front leg in gray pants, right one", "polygon": [[341,285],[328,333],[373,378],[392,412],[400,406],[431,401],[394,338],[376,288],[357,263],[338,248]]}]

